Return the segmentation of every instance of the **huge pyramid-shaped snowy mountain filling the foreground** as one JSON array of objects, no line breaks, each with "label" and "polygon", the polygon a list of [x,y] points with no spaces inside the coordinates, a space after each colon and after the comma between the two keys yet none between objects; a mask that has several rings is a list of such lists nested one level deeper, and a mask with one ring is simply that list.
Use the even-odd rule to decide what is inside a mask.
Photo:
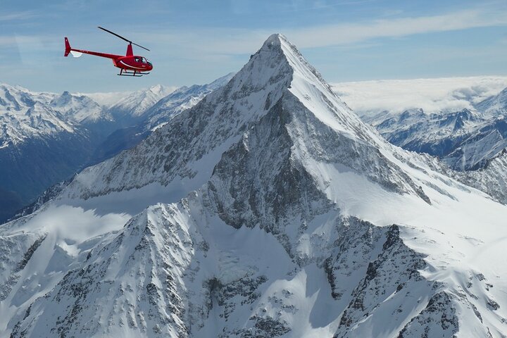
[{"label": "huge pyramid-shaped snowy mountain filling the foreground", "polygon": [[1,227],[0,330],[501,337],[506,215],[382,139],[272,35],[225,87]]}]

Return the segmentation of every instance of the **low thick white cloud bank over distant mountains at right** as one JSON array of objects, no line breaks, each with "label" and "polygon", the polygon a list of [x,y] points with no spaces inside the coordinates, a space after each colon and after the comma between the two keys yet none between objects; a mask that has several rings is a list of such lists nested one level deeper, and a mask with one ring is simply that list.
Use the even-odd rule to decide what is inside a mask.
[{"label": "low thick white cloud bank over distant mountains at right", "polygon": [[436,113],[472,108],[472,103],[506,88],[507,76],[341,82],[332,87],[359,114],[401,113],[408,108]]}]

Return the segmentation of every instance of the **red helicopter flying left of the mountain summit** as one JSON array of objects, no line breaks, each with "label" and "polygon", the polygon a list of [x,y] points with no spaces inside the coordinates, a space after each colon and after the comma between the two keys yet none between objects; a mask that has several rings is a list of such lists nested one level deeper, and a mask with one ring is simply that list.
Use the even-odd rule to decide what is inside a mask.
[{"label": "red helicopter flying left of the mountain summit", "polygon": [[[96,51],[84,51],[82,49],[73,49],[70,47],[70,43],[68,42],[67,37],[65,37],[65,54],[64,56],[68,56],[68,54],[72,54],[75,58],[79,58],[82,56],[82,54],[91,54],[95,56],[101,56],[103,58],[111,58],[113,60],[113,65],[115,67],[120,68],[120,74],[123,76],[142,76],[149,73],[149,70],[153,69],[153,65],[151,62],[146,60],[143,56],[137,56],[132,53],[132,44],[134,44],[132,41],[125,39],[125,37],[121,37],[120,35],[111,32],[111,30],[106,30],[106,28],[99,27],[101,30],[105,30],[108,33],[111,33],[112,35],[115,35],[119,37],[120,39],[124,39],[126,42],[128,42],[127,46],[127,55],[115,55],[115,54],[106,54],[106,53],[99,53]],[[146,51],[149,51],[149,49],[144,48],[143,46],[139,46],[139,44],[135,44],[138,47],[141,47],[142,49],[146,49]]]}]

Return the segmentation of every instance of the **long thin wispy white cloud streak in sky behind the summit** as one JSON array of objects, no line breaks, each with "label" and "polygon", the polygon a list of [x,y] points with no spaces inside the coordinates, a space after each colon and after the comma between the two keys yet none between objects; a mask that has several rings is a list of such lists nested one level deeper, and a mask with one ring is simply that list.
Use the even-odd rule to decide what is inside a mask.
[{"label": "long thin wispy white cloud streak in sky behind the summit", "polygon": [[238,28],[207,28],[184,32],[143,32],[155,43],[169,43],[188,51],[206,54],[248,54],[270,35],[280,32],[299,48],[346,46],[377,38],[399,38],[431,32],[466,30],[477,27],[507,25],[505,11],[463,10],[443,15],[427,15],[405,18],[384,18],[362,23],[339,23],[336,25],[314,25],[288,30]]}]

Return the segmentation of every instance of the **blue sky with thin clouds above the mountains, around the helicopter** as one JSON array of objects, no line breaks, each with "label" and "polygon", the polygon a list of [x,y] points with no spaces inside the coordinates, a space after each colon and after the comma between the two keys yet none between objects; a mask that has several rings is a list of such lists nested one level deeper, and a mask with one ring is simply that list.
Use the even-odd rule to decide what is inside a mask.
[{"label": "blue sky with thin clouds above the mountains, around the helicopter", "polygon": [[[141,78],[105,58],[125,54],[118,32],[151,51]],[[507,1],[468,0],[2,0],[0,82],[46,92],[130,91],[211,82],[239,70],[274,32],[329,82],[507,75]]]}]

